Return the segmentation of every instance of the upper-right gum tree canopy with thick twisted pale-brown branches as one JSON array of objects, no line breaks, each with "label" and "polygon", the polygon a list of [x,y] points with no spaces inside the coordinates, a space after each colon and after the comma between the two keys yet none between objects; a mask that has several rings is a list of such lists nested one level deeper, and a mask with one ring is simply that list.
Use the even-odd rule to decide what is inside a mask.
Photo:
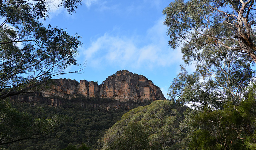
[{"label": "upper-right gum tree canopy with thick twisted pale-brown branches", "polygon": [[[214,45],[217,49],[255,56],[255,1],[233,0],[176,0],[166,7],[164,22],[169,26],[169,46],[190,43],[186,49],[201,49]],[[183,50],[185,51],[185,49]]]}]

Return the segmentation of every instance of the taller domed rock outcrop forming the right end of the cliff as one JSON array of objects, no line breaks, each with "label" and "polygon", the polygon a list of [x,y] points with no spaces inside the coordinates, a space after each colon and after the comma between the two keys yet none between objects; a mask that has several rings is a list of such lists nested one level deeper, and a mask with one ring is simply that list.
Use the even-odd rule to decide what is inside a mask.
[{"label": "taller domed rock outcrop forming the right end of the cliff", "polygon": [[109,97],[119,101],[143,101],[165,99],[159,87],[143,75],[127,70],[117,71],[99,85],[100,97]]}]

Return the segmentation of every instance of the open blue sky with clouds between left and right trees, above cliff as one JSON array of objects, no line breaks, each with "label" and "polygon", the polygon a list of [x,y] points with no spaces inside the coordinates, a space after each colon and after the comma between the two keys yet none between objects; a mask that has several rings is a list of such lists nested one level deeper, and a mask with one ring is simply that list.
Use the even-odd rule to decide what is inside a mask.
[{"label": "open blue sky with clouds between left and right trees, above cliff", "polygon": [[[180,72],[182,54],[168,47],[167,27],[162,11],[169,0],[83,0],[76,13],[68,14],[53,1],[51,24],[66,28],[69,34],[78,33],[82,46],[77,62],[86,62],[81,74],[65,74],[58,78],[77,81],[98,81],[100,84],[118,70],[142,74],[168,91],[170,82]],[[68,71],[79,68],[69,66]]]}]

